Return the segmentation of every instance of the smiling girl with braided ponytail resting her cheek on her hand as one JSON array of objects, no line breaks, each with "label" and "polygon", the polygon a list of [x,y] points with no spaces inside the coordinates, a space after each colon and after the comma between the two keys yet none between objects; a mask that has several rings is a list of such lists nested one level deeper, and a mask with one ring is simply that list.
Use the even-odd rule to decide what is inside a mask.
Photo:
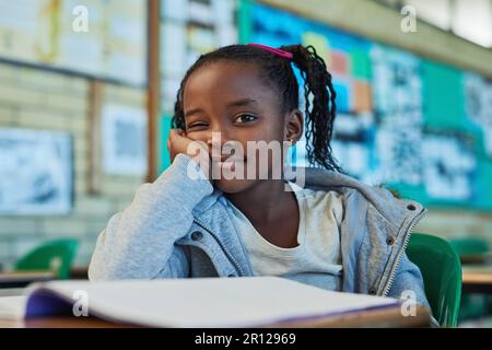
[{"label": "smiling girl with braided ponytail resting her cheek on her hand", "polygon": [[[305,81],[304,116],[292,63]],[[233,45],[201,56],[177,94],[172,165],[109,220],[91,280],[268,275],[327,290],[407,292],[429,307],[420,270],[405,254],[425,209],[341,174],[330,148],[335,102],[331,75],[312,46]],[[257,165],[249,155],[210,160],[214,132],[221,144],[244,149],[253,141],[293,144],[304,124],[317,166],[305,170],[304,188],[273,178],[270,159],[268,176],[211,178],[210,170]],[[194,141],[206,158],[195,158]],[[194,167],[201,176],[191,178]]]}]

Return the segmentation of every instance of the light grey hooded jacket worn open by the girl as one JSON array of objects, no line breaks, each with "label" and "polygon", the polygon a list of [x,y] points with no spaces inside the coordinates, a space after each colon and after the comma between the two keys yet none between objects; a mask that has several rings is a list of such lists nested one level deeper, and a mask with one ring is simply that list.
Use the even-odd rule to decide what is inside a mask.
[{"label": "light grey hooded jacket worn open by the girl", "polygon": [[[221,190],[208,179],[191,179],[188,166],[196,166],[195,161],[178,154],[109,220],[97,238],[91,280],[253,275]],[[412,228],[425,212],[420,203],[318,168],[305,168],[305,186],[342,195],[344,292],[400,298],[413,291],[417,302],[429,307],[421,272],[405,253]]]}]

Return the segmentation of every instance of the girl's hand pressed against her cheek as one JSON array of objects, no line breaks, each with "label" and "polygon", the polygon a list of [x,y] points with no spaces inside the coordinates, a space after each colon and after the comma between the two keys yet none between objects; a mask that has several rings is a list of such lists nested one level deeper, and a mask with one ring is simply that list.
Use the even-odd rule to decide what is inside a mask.
[{"label": "girl's hand pressed against her cheek", "polygon": [[174,162],[177,154],[183,153],[199,163],[203,172],[209,175],[210,155],[206,142],[187,138],[181,129],[171,129],[169,138],[167,139],[167,150],[171,154],[171,163]]}]

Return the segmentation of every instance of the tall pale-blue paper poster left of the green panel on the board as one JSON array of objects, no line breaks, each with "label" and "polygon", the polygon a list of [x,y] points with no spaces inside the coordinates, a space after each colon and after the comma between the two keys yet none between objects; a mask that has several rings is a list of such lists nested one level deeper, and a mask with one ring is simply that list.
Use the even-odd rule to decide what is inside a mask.
[{"label": "tall pale-blue paper poster left of the green panel on the board", "polygon": [[382,183],[422,185],[422,81],[420,59],[375,44],[371,49],[377,177]]}]

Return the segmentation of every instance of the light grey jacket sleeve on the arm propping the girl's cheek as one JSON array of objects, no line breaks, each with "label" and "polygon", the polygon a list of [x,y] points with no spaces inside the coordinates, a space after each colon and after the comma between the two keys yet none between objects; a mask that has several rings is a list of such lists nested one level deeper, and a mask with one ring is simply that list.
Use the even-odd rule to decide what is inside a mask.
[{"label": "light grey jacket sleeve on the arm propping the girl's cheek", "polygon": [[176,155],[154,183],[141,185],[131,205],[109,220],[91,259],[92,281],[186,277],[188,261],[175,243],[188,233],[191,210],[213,191],[203,176],[188,176],[190,167],[197,171],[195,161]]}]

